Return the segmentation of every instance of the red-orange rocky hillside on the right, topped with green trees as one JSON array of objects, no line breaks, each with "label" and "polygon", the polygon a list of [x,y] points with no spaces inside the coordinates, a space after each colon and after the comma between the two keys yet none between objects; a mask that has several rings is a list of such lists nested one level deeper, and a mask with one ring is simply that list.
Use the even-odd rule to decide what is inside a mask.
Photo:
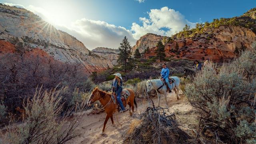
[{"label": "red-orange rocky hillside on the right, topped with green trees", "polygon": [[[166,56],[190,60],[210,58],[216,61],[234,58],[240,50],[250,48],[256,41],[255,15],[256,8],[253,8],[242,16],[196,24],[196,28],[183,30],[172,36],[165,44]],[[147,35],[142,37],[144,39],[137,43],[147,42]],[[145,56],[156,56],[156,49],[151,48]]]}]

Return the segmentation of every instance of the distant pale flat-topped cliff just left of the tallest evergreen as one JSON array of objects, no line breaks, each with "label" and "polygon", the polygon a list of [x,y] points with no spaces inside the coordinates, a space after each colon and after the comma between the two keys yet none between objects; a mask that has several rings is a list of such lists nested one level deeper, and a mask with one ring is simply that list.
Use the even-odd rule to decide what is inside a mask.
[{"label": "distant pale flat-topped cliff just left of the tallest evergreen", "polygon": [[106,58],[110,60],[110,62],[113,65],[117,64],[117,59],[118,59],[118,50],[115,49],[110,49],[110,48],[95,48],[92,50],[94,54],[97,54],[98,56],[101,56],[103,58]]}]

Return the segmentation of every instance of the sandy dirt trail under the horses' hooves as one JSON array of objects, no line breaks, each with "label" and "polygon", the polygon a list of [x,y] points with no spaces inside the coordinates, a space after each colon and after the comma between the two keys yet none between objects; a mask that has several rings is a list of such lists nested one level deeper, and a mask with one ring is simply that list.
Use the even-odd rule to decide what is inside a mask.
[{"label": "sandy dirt trail under the horses' hooves", "polygon": [[[157,98],[152,98],[154,104],[157,104]],[[197,122],[196,112],[194,108],[189,104],[184,95],[180,94],[180,100],[176,100],[175,93],[172,92],[167,96],[169,109],[176,113],[176,118],[182,126],[193,128]],[[84,114],[82,117],[83,121],[79,129],[82,135],[74,138],[70,143],[72,144],[120,144],[122,143],[123,135],[133,120],[139,118],[140,112],[143,112],[148,106],[148,100],[136,100],[138,104],[138,110],[134,112],[131,117],[129,112],[115,113],[114,123],[115,127],[112,126],[112,122],[109,119],[106,124],[105,134],[102,136],[103,123],[106,117],[105,112],[100,112],[99,114]],[[160,106],[165,106],[164,97],[161,97]],[[117,122],[118,121],[120,124]]]}]

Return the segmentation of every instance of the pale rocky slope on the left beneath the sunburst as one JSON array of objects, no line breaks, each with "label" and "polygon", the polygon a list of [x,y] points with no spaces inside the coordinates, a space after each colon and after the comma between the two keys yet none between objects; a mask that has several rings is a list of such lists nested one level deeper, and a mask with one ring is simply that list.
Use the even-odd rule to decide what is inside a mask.
[{"label": "pale rocky slope on the left beneath the sunburst", "polygon": [[55,60],[81,63],[89,73],[113,66],[106,58],[92,55],[73,36],[22,8],[0,5],[0,39],[14,44],[20,52],[40,48]]}]

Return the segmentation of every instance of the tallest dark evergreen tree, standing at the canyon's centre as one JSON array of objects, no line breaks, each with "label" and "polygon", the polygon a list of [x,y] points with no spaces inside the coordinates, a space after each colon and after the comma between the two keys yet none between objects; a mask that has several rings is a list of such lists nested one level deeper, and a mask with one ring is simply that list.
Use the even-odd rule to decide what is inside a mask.
[{"label": "tallest dark evergreen tree, standing at the canyon's centre", "polygon": [[117,62],[121,64],[124,72],[126,72],[132,68],[132,47],[130,46],[130,42],[128,42],[126,36],[122,40],[122,43],[120,43],[118,50],[120,52],[118,54]]}]

